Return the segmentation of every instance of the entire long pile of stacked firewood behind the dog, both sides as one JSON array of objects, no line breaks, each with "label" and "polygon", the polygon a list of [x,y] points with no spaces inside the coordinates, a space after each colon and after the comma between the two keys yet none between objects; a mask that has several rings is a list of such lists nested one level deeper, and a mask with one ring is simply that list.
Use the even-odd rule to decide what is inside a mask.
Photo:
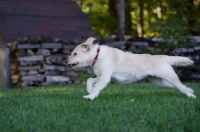
[{"label": "entire long pile of stacked firewood behind the dog, both sides", "polygon": [[[81,42],[80,40],[53,40],[39,36],[31,39],[26,36],[22,40],[14,42],[11,46],[11,72],[14,86],[44,86],[52,84],[81,83],[80,73],[91,73],[91,69],[74,71],[63,65],[72,50]],[[136,38],[126,36],[120,41],[117,37],[99,37],[100,44],[119,48],[123,51],[139,53],[142,48],[147,48],[152,53],[159,49],[158,41],[162,39]],[[169,55],[187,56],[195,60],[200,69],[200,39],[196,39],[197,45],[191,48],[176,48]],[[145,52],[143,52],[145,53]],[[198,69],[198,68],[197,68]],[[181,71],[180,71],[181,72]],[[193,70],[190,77],[200,80],[200,70]]]}]

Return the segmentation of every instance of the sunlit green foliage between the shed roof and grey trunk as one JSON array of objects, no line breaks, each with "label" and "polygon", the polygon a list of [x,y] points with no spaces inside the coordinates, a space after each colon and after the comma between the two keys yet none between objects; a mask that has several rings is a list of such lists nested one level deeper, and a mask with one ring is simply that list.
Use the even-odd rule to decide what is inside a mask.
[{"label": "sunlit green foliage between the shed roof and grey trunk", "polygon": [[108,13],[108,0],[86,0],[82,9],[88,15],[95,34],[110,35],[117,30],[118,19]]}]

